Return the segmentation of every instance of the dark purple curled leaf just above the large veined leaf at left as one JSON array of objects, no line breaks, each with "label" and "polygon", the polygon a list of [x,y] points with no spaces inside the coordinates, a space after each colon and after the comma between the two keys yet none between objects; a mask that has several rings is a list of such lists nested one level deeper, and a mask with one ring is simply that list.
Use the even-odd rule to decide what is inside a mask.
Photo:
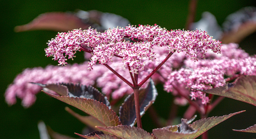
[{"label": "dark purple curled leaf just above the large veined leaf at left", "polygon": [[[59,95],[67,95],[70,97],[80,97],[87,99],[95,99],[97,101],[106,104],[110,107],[108,99],[100,93],[99,90],[95,89],[90,85],[73,84],[73,83],[53,83],[53,84],[37,84],[43,87],[45,92],[50,93],[49,89],[56,92]],[[52,94],[52,93],[51,93]]]}]

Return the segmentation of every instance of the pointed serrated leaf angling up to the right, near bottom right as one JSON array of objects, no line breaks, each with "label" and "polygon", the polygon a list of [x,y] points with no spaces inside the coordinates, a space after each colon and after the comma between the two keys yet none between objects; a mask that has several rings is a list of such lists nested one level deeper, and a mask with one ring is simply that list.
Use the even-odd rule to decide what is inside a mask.
[{"label": "pointed serrated leaf angling up to the right, near bottom right", "polygon": [[220,124],[221,122],[225,121],[226,119],[229,119],[230,117],[232,117],[236,114],[240,114],[244,111],[245,110],[239,111],[239,112],[236,112],[236,113],[233,113],[233,114],[224,115],[224,116],[209,117],[207,119],[204,118],[204,119],[197,120],[197,121],[195,121],[191,124],[191,126],[194,129],[196,129],[197,132],[195,134],[188,135],[186,137],[186,139],[195,139],[196,137],[200,136],[201,134],[203,134],[207,130],[214,127],[215,125]]}]

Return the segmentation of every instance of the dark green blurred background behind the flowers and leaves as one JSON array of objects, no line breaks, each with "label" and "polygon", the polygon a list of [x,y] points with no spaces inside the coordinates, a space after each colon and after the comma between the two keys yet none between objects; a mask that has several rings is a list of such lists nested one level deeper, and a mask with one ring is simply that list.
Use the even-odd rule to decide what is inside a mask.
[{"label": "dark green blurred background behind the flowers and leaves", "polygon": [[[46,43],[57,34],[56,31],[36,30],[15,33],[14,27],[29,23],[35,17],[45,12],[99,10],[101,12],[121,15],[131,22],[131,25],[160,25],[167,30],[184,29],[188,15],[189,0],[1,0],[1,30],[0,52],[0,139],[39,139],[37,123],[43,120],[53,130],[78,138],[84,125],[65,111],[63,102],[50,98],[43,93],[37,94],[37,100],[30,108],[23,108],[20,99],[12,106],[5,103],[4,93],[17,74],[26,68],[57,65],[57,61],[45,56]],[[226,16],[240,10],[242,7],[256,6],[251,0],[199,0],[196,9],[196,19],[201,19],[204,11],[216,16],[221,25]],[[256,33],[249,35],[240,43],[240,47],[250,55],[255,54]],[[71,63],[82,63],[83,54],[78,53]],[[171,94],[161,93],[154,107],[163,118],[171,111]],[[167,98],[167,99],[166,99]],[[166,106],[163,106],[166,105]],[[71,107],[72,108],[72,107]],[[179,108],[179,116],[184,114],[187,106]],[[73,108],[72,108],[73,109]],[[210,114],[221,116],[246,110],[235,115],[209,130],[209,139],[252,139],[256,134],[235,132],[231,129],[246,129],[256,124],[256,107],[233,99],[224,99]],[[149,114],[142,118],[143,127],[151,132]]]}]

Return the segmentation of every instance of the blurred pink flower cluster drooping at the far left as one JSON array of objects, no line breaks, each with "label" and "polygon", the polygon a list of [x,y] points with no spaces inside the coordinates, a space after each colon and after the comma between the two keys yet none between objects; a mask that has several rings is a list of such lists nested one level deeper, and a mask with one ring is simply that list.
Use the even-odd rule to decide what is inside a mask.
[{"label": "blurred pink flower cluster drooping at the far left", "polygon": [[[35,102],[35,95],[42,89],[36,84],[30,84],[30,82],[41,84],[73,82],[93,85],[96,79],[108,70],[99,66],[95,67],[94,71],[84,70],[86,68],[86,64],[74,64],[66,67],[51,65],[45,69],[41,67],[25,69],[7,88],[5,101],[12,105],[16,103],[16,97],[18,97],[22,99],[22,105],[24,107],[30,107]],[[93,72],[98,74],[94,74]]]}]

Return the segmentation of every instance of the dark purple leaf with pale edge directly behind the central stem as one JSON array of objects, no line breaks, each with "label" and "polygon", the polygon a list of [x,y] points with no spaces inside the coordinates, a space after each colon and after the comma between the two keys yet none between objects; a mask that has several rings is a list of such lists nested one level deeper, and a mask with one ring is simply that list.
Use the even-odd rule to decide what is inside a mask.
[{"label": "dark purple leaf with pale edge directly behind the central stem", "polygon": [[[139,90],[141,116],[155,102],[157,90],[152,79],[146,89]],[[133,126],[136,124],[136,112],[134,94],[129,95],[119,110],[119,118],[122,124]]]}]

